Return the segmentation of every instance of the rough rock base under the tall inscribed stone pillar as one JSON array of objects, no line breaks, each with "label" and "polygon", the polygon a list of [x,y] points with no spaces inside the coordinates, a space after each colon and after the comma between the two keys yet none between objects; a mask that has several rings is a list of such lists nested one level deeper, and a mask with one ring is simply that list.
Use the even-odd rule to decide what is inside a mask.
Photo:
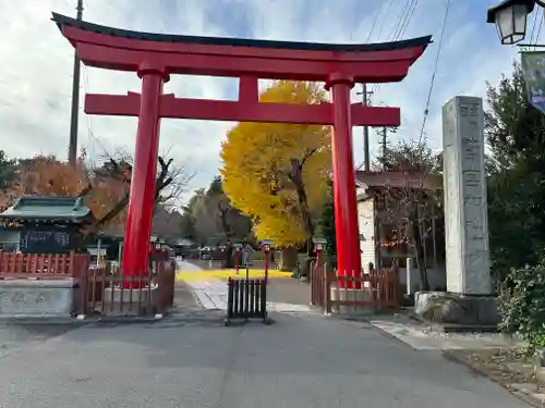
[{"label": "rough rock base under the tall inscribed stone pillar", "polygon": [[495,296],[417,292],[414,314],[448,331],[497,331],[500,322]]}]

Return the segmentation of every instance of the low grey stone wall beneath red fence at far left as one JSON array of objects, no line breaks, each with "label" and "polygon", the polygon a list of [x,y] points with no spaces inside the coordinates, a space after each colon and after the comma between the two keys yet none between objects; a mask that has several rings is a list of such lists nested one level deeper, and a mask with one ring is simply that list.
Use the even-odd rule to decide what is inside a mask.
[{"label": "low grey stone wall beneath red fence at far left", "polygon": [[77,286],[73,279],[0,281],[0,317],[68,318],[77,305]]}]

